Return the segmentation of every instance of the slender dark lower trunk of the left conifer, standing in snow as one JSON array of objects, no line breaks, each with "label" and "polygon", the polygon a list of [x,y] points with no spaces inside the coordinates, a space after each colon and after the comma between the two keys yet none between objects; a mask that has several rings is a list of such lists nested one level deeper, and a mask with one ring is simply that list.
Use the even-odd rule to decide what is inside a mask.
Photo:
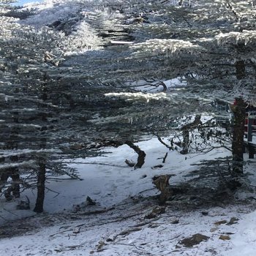
[{"label": "slender dark lower trunk of the left conifer, standing in snow", "polygon": [[43,204],[45,200],[45,173],[46,165],[44,161],[39,162],[39,171],[37,174],[37,202],[34,211],[40,213],[43,211]]}]

